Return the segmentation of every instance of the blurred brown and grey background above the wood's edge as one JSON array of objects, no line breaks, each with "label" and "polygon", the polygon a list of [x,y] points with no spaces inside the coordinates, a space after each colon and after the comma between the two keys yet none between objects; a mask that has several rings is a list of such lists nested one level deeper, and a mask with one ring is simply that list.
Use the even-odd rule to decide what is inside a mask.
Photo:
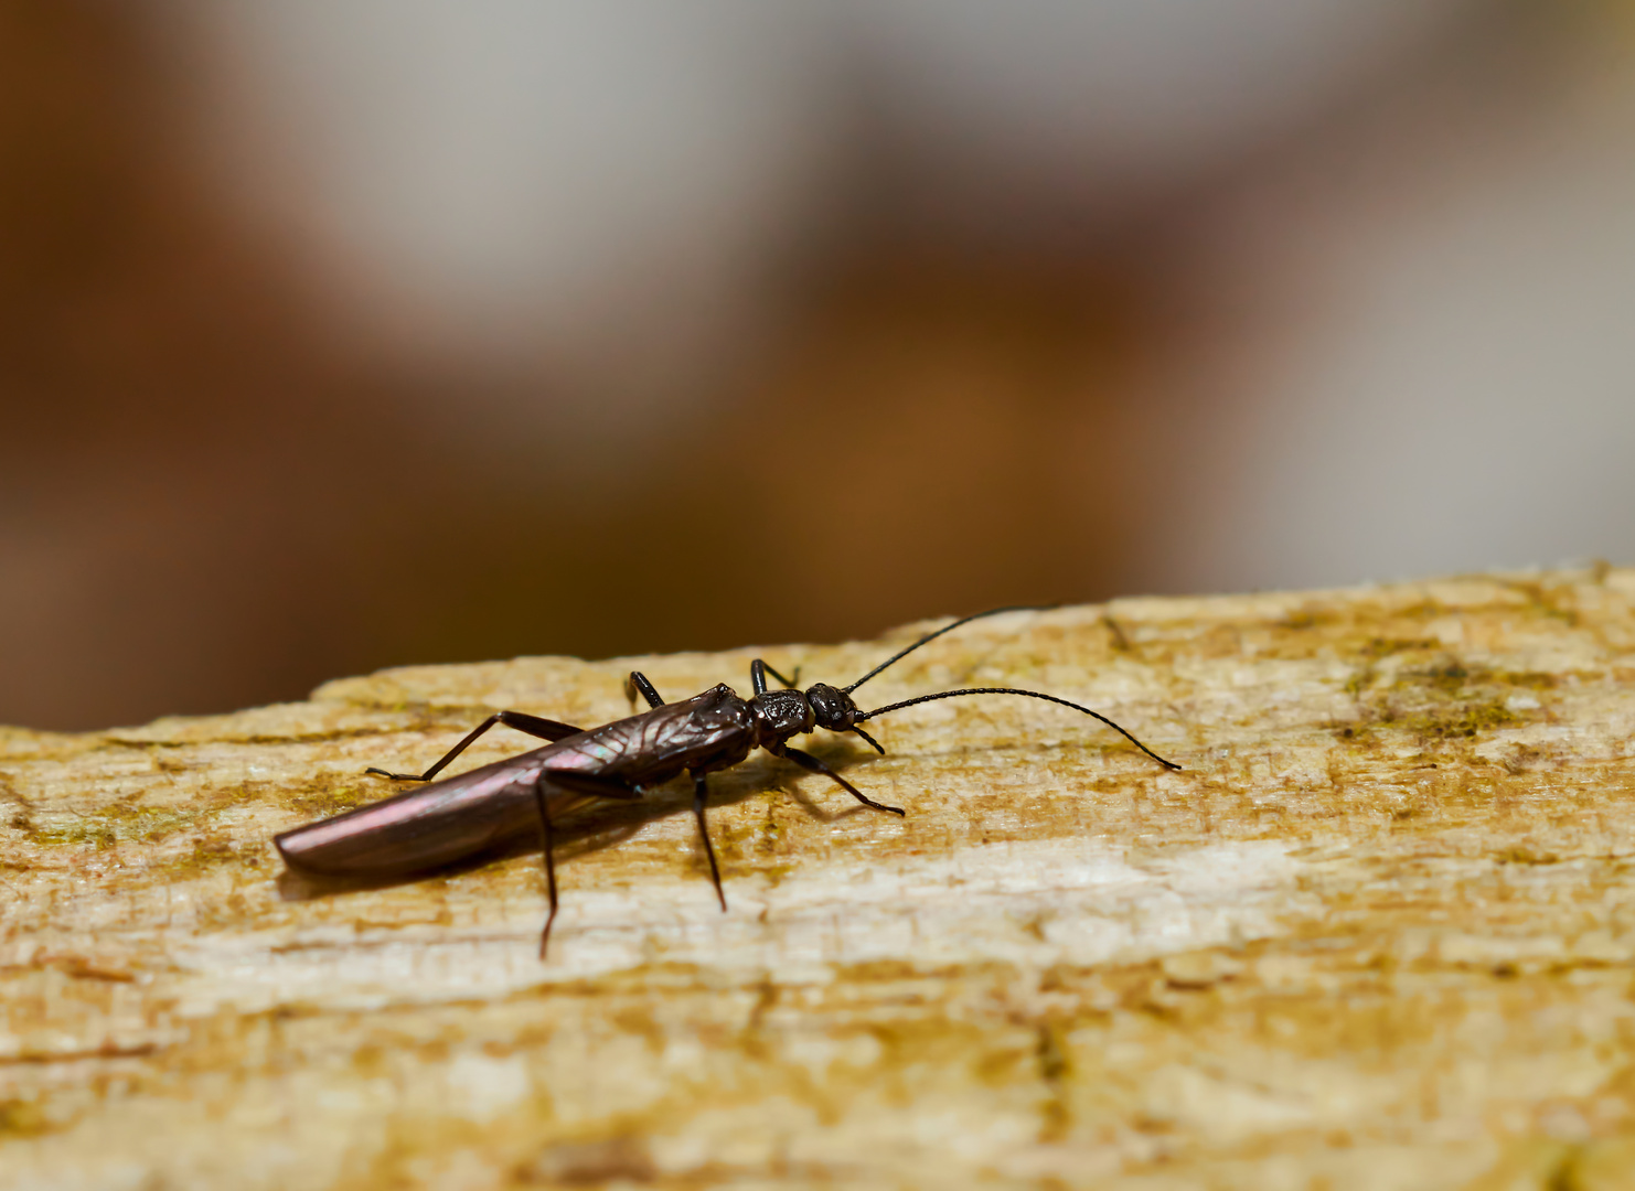
[{"label": "blurred brown and grey background above the wood's edge", "polygon": [[0,0],[0,722],[1630,560],[1632,31]]}]

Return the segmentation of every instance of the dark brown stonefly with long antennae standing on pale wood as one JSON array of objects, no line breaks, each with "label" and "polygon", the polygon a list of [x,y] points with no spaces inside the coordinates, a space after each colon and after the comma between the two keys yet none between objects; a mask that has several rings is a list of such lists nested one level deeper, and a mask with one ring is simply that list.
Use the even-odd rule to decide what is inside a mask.
[{"label": "dark brown stonefly with long antennae standing on pale wood", "polygon": [[[651,711],[629,719],[613,720],[595,729],[579,729],[520,711],[497,711],[477,724],[464,740],[450,748],[443,760],[425,773],[387,773],[376,768],[370,768],[368,773],[392,781],[432,781],[473,740],[495,724],[551,743],[520,756],[484,765],[458,778],[445,778],[422,789],[405,791],[381,802],[347,810],[334,819],[298,827],[273,836],[273,843],[278,845],[284,863],[294,869],[330,877],[389,879],[477,856],[538,827],[544,848],[544,884],[551,899],[551,913],[540,935],[540,957],[543,959],[551,941],[551,926],[556,923],[558,908],[556,861],[551,856],[554,825],[562,815],[597,799],[639,801],[649,789],[679,776],[683,769],[692,774],[693,817],[698,820],[698,835],[705,843],[705,856],[710,858],[710,879],[714,882],[723,910],[726,910],[726,894],[721,890],[721,869],[716,866],[710,830],[705,825],[710,774],[737,765],[752,750],[765,748],[773,756],[785,756],[804,769],[832,778],[865,807],[901,815],[899,807],[875,802],[821,760],[788,743],[790,737],[819,727],[829,732],[853,732],[885,755],[886,750],[880,747],[880,742],[860,727],[863,720],[932,699],[956,699],[966,694],[1025,694],[1030,699],[1058,703],[1063,707],[1094,716],[1166,769],[1180,768],[1174,761],[1166,761],[1100,712],[1068,699],[1058,699],[1055,694],[1019,691],[1010,686],[974,686],[922,694],[873,711],[858,711],[852,701],[852,691],[929,640],[983,616],[1014,611],[1038,609],[992,608],[958,619],[891,655],[850,686],[837,688],[814,683],[804,691],[793,689],[795,680],[785,678],[755,658],[749,665],[749,680],[755,694],[749,699],[741,699],[731,686],[721,683],[692,699],[665,703],[646,675],[636,670],[629,675],[631,698],[634,699],[639,691]],[[795,673],[800,678],[800,671]],[[785,689],[768,691],[767,675],[783,683]]]}]

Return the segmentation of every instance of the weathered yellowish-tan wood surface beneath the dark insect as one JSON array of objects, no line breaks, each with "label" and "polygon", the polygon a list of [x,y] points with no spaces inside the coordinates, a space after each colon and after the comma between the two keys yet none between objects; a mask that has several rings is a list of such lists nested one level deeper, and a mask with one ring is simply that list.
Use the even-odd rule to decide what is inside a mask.
[{"label": "weathered yellowish-tan wood surface beneath the dark insect", "polygon": [[[775,647],[849,680],[909,637]],[[750,650],[643,658],[747,688]],[[1635,1186],[1635,572],[1007,614],[889,750],[312,895],[270,836],[629,663],[0,732],[0,1188]],[[495,732],[471,763],[528,747]]]}]

